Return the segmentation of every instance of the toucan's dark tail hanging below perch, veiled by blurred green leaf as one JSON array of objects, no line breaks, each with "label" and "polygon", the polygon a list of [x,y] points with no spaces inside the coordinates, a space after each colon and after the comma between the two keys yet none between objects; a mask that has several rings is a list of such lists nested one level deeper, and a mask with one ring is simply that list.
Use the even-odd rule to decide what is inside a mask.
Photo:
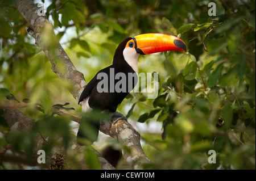
[{"label": "toucan's dark tail hanging below perch, veiled by blurred green leaf", "polygon": [[98,129],[100,128],[100,121],[94,120],[92,117],[83,115],[79,131],[77,132],[77,144],[90,146],[98,138]]}]

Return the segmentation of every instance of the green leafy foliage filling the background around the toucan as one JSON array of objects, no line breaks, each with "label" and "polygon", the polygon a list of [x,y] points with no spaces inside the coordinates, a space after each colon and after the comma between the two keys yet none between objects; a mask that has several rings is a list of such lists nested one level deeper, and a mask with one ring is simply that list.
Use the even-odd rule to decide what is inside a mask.
[{"label": "green leafy foliage filling the background around the toucan", "polygon": [[[134,124],[162,127],[139,130],[152,169],[255,169],[255,1],[218,1],[216,16],[208,15],[209,2],[42,1],[57,38],[86,81],[112,63],[115,48],[127,36],[168,33],[187,44],[186,54],[140,57],[139,71],[160,75],[158,97],[131,93],[118,108]],[[15,150],[24,150],[30,159],[36,131],[52,137],[48,149],[56,144],[55,133],[68,144],[69,122],[53,116],[52,106],[74,114],[80,107],[68,92],[71,86],[51,71],[27,35],[28,23],[13,4],[0,1],[0,14],[0,104],[31,100],[22,112],[37,126],[11,137]],[[10,129],[0,118],[5,135]],[[0,136],[0,148],[5,145]],[[208,163],[209,150],[216,151],[217,163]],[[93,156],[85,162],[99,168]]]}]

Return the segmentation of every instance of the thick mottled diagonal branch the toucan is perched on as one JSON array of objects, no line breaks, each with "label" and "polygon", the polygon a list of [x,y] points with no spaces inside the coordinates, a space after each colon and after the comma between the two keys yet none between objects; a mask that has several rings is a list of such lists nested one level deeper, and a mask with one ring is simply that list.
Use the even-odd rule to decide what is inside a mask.
[{"label": "thick mottled diagonal branch the toucan is perched on", "polygon": [[[16,0],[15,6],[30,24],[31,28],[27,28],[27,32],[35,38],[36,44],[46,53],[51,62],[52,71],[61,79],[73,85],[73,89],[69,91],[78,102],[79,96],[86,86],[84,75],[73,66],[63,47],[57,41],[47,16],[40,14],[38,7],[31,0]],[[123,157],[133,169],[138,169],[141,163],[151,163],[141,148],[139,133],[127,123],[126,118],[120,113],[115,112],[111,120],[104,121],[101,124],[100,131],[116,138],[122,144]],[[75,146],[71,147],[77,148],[76,151],[80,152],[81,146],[77,145],[76,141],[72,144]],[[127,148],[130,151],[126,151]],[[95,152],[98,154],[96,150]],[[101,161],[101,163],[103,164],[105,161]],[[105,168],[105,166],[102,166],[102,169]]]}]

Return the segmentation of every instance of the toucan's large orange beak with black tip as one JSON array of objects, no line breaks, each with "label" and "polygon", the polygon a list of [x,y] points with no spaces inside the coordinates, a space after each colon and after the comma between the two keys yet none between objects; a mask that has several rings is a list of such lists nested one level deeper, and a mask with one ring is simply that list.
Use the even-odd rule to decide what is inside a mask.
[{"label": "toucan's large orange beak with black tip", "polygon": [[184,41],[176,36],[162,33],[146,33],[133,37],[135,49],[139,54],[151,54],[178,50],[186,52]]}]

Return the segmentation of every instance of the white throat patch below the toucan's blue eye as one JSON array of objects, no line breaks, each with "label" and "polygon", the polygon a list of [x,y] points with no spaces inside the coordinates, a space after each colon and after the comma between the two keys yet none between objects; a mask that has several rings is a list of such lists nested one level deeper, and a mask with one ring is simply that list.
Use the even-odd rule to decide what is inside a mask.
[{"label": "white throat patch below the toucan's blue eye", "polygon": [[123,57],[125,57],[125,61],[127,64],[131,66],[131,68],[138,73],[138,58],[139,53],[136,52],[134,48],[126,47],[123,50]]}]

